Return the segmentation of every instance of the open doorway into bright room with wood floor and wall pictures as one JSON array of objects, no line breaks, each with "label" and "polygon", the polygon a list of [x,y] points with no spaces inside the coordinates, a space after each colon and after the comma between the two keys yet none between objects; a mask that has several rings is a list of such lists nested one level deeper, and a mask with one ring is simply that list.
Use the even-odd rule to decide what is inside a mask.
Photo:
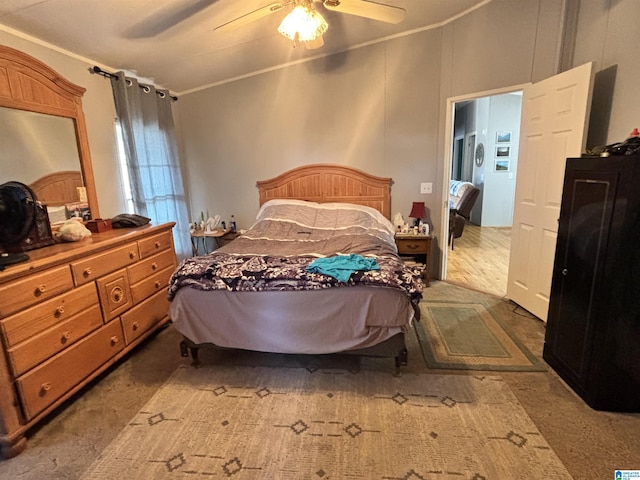
[{"label": "open doorway into bright room with wood floor and wall pictures", "polygon": [[[445,185],[470,182],[481,193],[463,236],[443,255],[441,278],[498,296],[507,288],[522,88],[452,98],[447,105]],[[444,190],[448,205],[449,189]],[[448,225],[445,210],[443,225]]]}]

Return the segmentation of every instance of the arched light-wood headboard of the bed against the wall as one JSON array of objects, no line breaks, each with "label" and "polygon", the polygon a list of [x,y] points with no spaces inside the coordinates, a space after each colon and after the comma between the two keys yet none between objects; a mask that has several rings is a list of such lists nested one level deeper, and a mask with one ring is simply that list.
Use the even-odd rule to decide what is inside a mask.
[{"label": "arched light-wood headboard of the bed against the wall", "polygon": [[257,182],[260,205],[274,198],[343,202],[372,207],[391,218],[390,178],[376,177],[343,165],[304,165]]}]

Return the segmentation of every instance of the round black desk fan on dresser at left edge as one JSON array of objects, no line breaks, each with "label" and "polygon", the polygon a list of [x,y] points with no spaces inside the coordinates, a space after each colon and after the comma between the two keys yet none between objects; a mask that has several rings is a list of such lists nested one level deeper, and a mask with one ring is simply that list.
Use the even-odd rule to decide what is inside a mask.
[{"label": "round black desk fan on dresser at left edge", "polygon": [[[36,221],[36,196],[27,185],[6,182],[0,185],[0,245],[24,240]],[[0,270],[29,259],[25,253],[1,253]]]}]

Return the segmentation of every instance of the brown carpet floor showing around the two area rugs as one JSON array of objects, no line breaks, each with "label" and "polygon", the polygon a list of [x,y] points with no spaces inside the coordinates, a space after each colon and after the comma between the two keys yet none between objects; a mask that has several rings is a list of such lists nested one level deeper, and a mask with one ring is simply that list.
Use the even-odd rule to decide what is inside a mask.
[{"label": "brown carpet floor showing around the two area rugs", "polygon": [[[425,302],[447,301],[482,303],[540,359],[544,324],[527,312],[499,297],[446,282],[432,282],[425,291]],[[33,428],[23,453],[9,460],[0,460],[0,478],[80,478],[111,442],[129,428],[132,419],[161,390],[176,369],[189,366],[189,361],[180,357],[179,342],[179,334],[169,327],[137,348]],[[403,367],[403,379],[418,374],[502,378],[546,444],[575,480],[614,478],[616,469],[640,468],[640,436],[637,433],[640,431],[640,414],[594,411],[550,368],[546,372],[434,370],[424,361],[417,336],[409,335],[407,343],[409,365]],[[393,372],[393,362],[387,359],[339,355],[307,357],[204,349],[201,359],[205,365],[247,367],[247,371],[257,367],[276,367],[309,371],[340,369],[385,375]],[[428,422],[419,423],[414,428],[422,432],[420,435],[434,431]],[[495,458],[494,461],[499,463],[501,460]],[[537,480],[528,473],[520,472],[519,478]],[[424,477],[426,480],[446,478],[436,473]],[[450,475],[448,478],[460,477]],[[322,480],[321,477],[318,479]],[[409,474],[406,479],[420,480],[420,477]]]}]

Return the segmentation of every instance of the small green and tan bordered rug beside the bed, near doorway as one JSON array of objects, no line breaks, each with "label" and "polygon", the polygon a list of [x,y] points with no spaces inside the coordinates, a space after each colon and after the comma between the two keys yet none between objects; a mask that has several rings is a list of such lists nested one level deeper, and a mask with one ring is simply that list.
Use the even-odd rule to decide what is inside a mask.
[{"label": "small green and tan bordered rug beside the bed, near doorway", "polygon": [[420,308],[416,332],[429,368],[547,370],[481,303],[422,302]]}]

